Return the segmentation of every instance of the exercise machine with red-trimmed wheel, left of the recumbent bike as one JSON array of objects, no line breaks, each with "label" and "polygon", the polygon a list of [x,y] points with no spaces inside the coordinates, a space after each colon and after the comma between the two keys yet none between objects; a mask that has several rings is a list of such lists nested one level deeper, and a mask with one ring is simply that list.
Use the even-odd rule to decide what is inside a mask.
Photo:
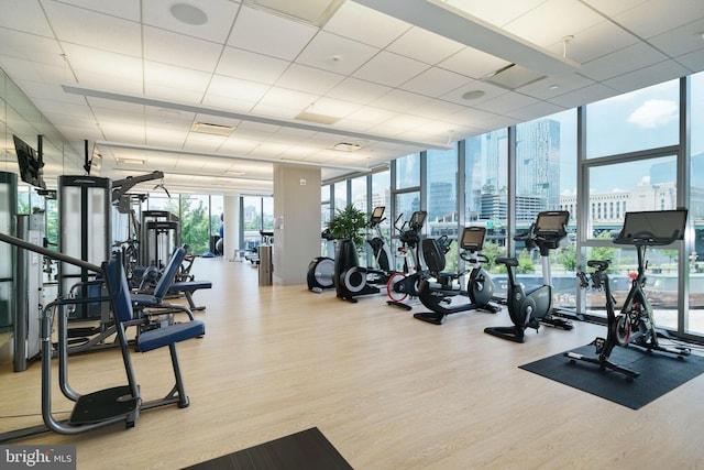
[{"label": "exercise machine with red-trimmed wheel, left of the recumbent bike", "polygon": [[[410,220],[405,220],[400,227],[398,227],[398,221],[403,215],[398,216],[394,222],[394,228],[398,231],[398,241],[402,243],[398,252],[404,255],[404,269],[403,272],[393,273],[386,283],[386,295],[389,298],[386,300],[387,305],[410,310],[413,307],[404,300],[408,297],[417,297],[420,282],[429,275],[428,271],[424,271],[421,267],[418,252],[420,231],[426,223],[427,216],[428,212],[425,210],[416,210],[410,216]],[[447,240],[447,237],[444,239]],[[408,260],[411,260],[413,266],[408,265]]]}]

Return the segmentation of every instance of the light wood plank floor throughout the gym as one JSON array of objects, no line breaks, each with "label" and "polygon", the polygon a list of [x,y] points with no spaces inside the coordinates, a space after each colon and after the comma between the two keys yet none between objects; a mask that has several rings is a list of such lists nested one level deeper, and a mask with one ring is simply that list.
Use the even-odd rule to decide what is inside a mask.
[{"label": "light wood plank floor throughout the gym", "polygon": [[[704,376],[632,411],[518,369],[603,327],[530,330],[517,345],[483,332],[509,325],[506,311],[439,327],[381,295],[349,304],[302,285],[260,288],[249,264],[199,259],[194,272],[213,288],[196,293],[206,337],[179,345],[188,408],[14,444],[75,444],[78,469],[177,469],[317,426],[356,469],[704,468]],[[133,359],[144,398],[165,394],[167,351]],[[82,393],[124,383],[117,351],[72,357],[69,378]],[[3,364],[0,384],[0,431],[41,423],[38,363]]]}]

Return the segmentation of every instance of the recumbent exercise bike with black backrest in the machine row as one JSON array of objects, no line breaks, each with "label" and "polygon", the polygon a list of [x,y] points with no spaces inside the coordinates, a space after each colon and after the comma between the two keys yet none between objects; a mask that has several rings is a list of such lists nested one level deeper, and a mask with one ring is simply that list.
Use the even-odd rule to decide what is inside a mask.
[{"label": "recumbent exercise bike with black backrest in the machine row", "polygon": [[[446,253],[442,252],[436,240],[426,239],[422,241],[422,258],[426,260],[430,275],[435,281],[426,278],[420,282],[418,298],[431,311],[415,314],[414,318],[433,325],[442,325],[447,316],[451,314],[477,309],[496,314],[502,309],[499,305],[491,302],[495,285],[482,266],[482,263],[488,262],[485,255],[480,254],[485,234],[486,228],[484,227],[466,227],[462,231],[460,258],[472,267],[466,291],[462,291],[460,285],[454,282],[466,272],[443,273]],[[453,304],[453,297],[469,297],[470,302]]]}]

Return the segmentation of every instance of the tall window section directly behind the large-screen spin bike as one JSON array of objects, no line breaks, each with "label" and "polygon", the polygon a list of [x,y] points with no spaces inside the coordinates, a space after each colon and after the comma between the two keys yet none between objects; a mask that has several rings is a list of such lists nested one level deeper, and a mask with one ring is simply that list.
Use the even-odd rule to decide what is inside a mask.
[{"label": "tall window section directly behind the large-screen spin bike", "polygon": [[[616,245],[628,211],[674,209],[678,204],[679,80],[586,107],[585,261],[608,259],[612,291],[620,304],[637,269],[634,248]],[[678,329],[679,244],[647,249],[656,323]],[[604,313],[603,293],[590,293],[586,308]]]}]

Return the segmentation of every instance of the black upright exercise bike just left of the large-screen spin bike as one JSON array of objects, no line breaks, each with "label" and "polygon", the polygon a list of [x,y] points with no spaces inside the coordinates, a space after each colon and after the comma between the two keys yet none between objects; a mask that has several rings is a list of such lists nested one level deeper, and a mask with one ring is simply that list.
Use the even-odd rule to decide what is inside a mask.
[{"label": "black upright exercise bike just left of the large-screen spin bike", "polygon": [[542,260],[542,285],[524,288],[516,282],[514,269],[518,266],[516,258],[497,258],[496,263],[506,265],[508,291],[506,305],[514,326],[488,327],[484,332],[515,342],[524,342],[526,328],[539,330],[540,324],[565,330],[573,328],[572,321],[552,316],[552,286],[550,275],[550,250],[554,250],[566,237],[566,223],[570,212],[548,210],[538,214],[528,232],[515,240],[524,240],[527,245],[540,249]]}]

